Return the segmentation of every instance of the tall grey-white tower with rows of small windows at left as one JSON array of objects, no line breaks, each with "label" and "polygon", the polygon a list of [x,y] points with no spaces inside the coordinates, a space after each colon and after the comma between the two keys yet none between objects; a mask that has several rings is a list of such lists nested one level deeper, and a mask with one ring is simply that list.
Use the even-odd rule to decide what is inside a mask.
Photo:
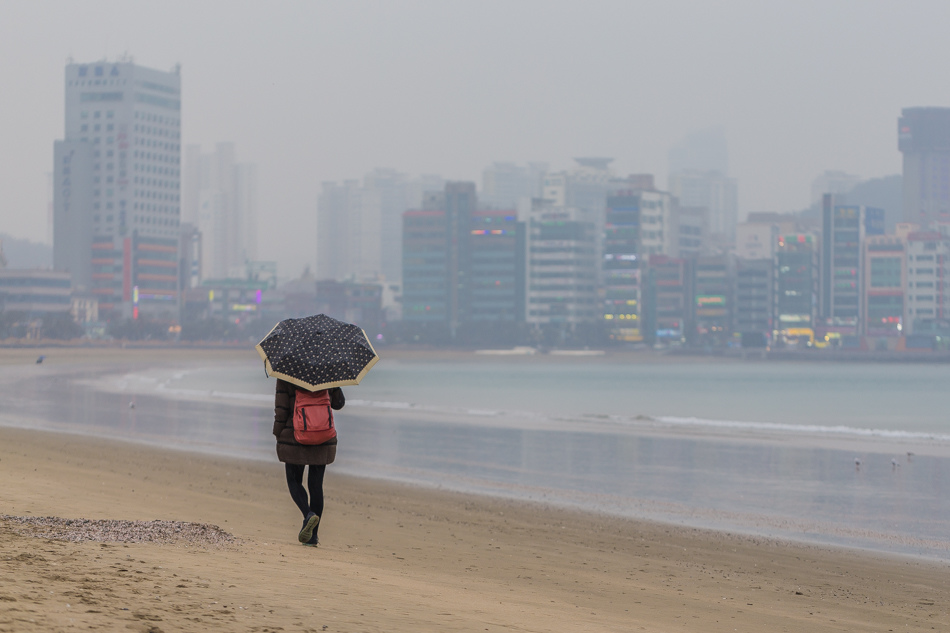
[{"label": "tall grey-white tower with rows of small windows at left", "polygon": [[131,61],[66,65],[53,148],[53,267],[102,318],[178,311],[181,75]]}]

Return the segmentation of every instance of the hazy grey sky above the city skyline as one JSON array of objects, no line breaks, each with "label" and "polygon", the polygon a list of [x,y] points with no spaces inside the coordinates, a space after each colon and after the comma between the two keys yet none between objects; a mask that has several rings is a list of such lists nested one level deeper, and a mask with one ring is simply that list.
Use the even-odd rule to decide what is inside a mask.
[{"label": "hazy grey sky above the city skyline", "polygon": [[[950,105],[943,0],[0,2],[0,231],[47,235],[66,58],[182,65],[182,145],[259,166],[260,254],[314,262],[320,182],[374,167],[481,181],[493,160],[612,156],[666,183],[725,131],[740,217],[825,169],[900,171],[896,119]],[[293,270],[292,270],[293,269]]]}]

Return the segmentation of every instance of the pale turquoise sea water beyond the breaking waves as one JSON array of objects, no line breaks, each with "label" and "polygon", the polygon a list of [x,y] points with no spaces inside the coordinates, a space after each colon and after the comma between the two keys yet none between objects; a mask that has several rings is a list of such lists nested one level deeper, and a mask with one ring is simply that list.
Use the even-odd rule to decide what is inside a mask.
[{"label": "pale turquoise sea water beyond the breaking waves", "polygon": [[[253,366],[181,373],[169,389],[270,396]],[[950,438],[950,365],[798,362],[380,362],[350,399],[472,413],[647,416],[737,428]]]}]

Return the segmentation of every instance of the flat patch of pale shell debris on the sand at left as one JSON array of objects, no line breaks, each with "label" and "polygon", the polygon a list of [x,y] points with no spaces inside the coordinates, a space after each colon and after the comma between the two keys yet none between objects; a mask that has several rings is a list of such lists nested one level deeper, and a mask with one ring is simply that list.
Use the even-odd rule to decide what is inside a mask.
[{"label": "flat patch of pale shell debris on the sand at left", "polygon": [[23,536],[82,543],[187,543],[235,545],[238,539],[210,523],[123,521],[0,515],[0,523]]}]

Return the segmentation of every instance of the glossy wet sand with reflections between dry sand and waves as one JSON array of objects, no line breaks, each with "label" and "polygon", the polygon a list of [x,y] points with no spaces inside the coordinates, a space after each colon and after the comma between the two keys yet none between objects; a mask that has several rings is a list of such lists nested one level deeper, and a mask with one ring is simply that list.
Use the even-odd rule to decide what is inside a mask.
[{"label": "glossy wet sand with reflections between dry sand and waves", "polygon": [[[105,393],[7,376],[3,423],[254,459],[273,459],[261,403]],[[134,404],[134,406],[130,406]],[[334,468],[700,527],[950,558],[946,457],[815,448],[781,438],[588,429],[490,428],[478,416],[350,406]],[[593,428],[593,427],[592,427]],[[895,462],[896,463],[896,462]]]}]

